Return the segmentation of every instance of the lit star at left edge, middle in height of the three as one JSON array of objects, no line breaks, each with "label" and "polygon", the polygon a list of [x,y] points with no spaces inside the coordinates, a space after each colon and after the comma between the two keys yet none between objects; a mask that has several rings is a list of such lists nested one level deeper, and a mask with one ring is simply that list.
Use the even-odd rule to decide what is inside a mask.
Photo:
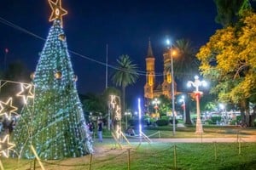
[{"label": "lit star at left edge, middle in height of the three", "polygon": [[8,119],[11,118],[12,113],[15,113],[15,111],[18,110],[17,107],[13,106],[13,99],[12,98],[9,98],[7,100],[7,102],[5,102],[5,103],[3,101],[0,101],[0,107],[1,107],[0,116],[1,115],[6,115]]}]

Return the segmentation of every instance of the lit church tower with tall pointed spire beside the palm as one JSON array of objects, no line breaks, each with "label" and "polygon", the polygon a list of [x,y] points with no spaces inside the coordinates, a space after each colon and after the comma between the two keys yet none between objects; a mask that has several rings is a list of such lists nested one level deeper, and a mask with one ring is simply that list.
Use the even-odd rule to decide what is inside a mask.
[{"label": "lit church tower with tall pointed spire beside the palm", "polygon": [[155,83],[155,75],[154,75],[154,55],[151,47],[151,42],[148,42],[148,55],[146,57],[146,84],[144,86],[144,97],[146,99],[153,99],[154,97],[154,83]]}]

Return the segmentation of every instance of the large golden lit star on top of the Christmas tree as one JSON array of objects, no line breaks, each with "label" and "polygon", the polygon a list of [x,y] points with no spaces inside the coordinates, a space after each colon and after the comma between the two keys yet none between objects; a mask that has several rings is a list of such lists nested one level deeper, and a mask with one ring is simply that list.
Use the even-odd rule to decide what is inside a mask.
[{"label": "large golden lit star on top of the Christmas tree", "polygon": [[56,0],[56,2],[53,2],[52,0],[48,0],[48,3],[52,10],[49,17],[49,21],[61,20],[61,27],[62,27],[62,16],[67,14],[67,10],[61,7],[61,0]]}]

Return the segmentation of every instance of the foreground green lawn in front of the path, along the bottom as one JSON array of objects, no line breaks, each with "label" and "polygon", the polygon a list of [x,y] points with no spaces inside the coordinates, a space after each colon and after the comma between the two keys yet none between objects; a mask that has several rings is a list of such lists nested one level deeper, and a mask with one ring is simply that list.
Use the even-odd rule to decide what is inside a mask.
[{"label": "foreground green lawn in front of the path, along the bottom", "polygon": [[[128,169],[128,147],[120,150],[113,144],[97,144],[91,169]],[[239,151],[240,150],[240,151]],[[176,161],[175,161],[176,160]],[[33,161],[2,159],[4,169],[30,169]],[[45,169],[89,169],[90,156],[59,161],[44,161]],[[256,144],[135,144],[130,150],[130,169],[255,169]],[[37,169],[40,169],[36,162]]]}]

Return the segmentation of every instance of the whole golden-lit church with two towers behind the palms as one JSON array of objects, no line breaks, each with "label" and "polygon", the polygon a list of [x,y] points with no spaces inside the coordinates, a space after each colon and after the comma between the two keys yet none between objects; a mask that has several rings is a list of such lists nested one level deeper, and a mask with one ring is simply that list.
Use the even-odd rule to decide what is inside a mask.
[{"label": "whole golden-lit church with two towers behind the palms", "polygon": [[[157,98],[160,95],[165,95],[168,99],[172,99],[172,74],[170,71],[166,71],[168,65],[171,65],[171,56],[166,51],[163,54],[163,78],[162,82],[157,83],[155,77],[155,68],[154,68],[154,54],[151,47],[151,42],[148,42],[148,55],[146,56],[146,83],[144,85],[144,98],[147,101]],[[174,82],[174,94],[177,94],[177,84]],[[148,102],[147,102],[148,103]]]}]

